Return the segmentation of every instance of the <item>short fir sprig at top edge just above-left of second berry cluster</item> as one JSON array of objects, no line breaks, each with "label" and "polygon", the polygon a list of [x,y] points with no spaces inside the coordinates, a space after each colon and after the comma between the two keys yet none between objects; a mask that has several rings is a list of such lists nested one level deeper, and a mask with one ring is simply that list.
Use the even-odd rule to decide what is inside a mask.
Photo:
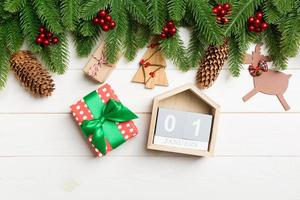
[{"label": "short fir sprig at top edge just above-left of second berry cluster", "polygon": [[100,9],[106,8],[108,4],[109,0],[89,0],[82,5],[81,17],[85,20],[91,20]]}]

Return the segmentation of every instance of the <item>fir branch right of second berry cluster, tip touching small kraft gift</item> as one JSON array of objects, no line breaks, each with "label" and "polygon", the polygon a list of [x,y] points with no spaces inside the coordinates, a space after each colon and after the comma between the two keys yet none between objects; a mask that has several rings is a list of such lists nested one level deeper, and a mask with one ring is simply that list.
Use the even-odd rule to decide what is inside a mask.
[{"label": "fir branch right of second berry cluster, tip touching small kraft gift", "polygon": [[111,16],[116,21],[116,27],[108,31],[105,38],[105,54],[109,63],[116,63],[121,52],[124,34],[127,31],[127,13],[120,0],[111,0]]}]

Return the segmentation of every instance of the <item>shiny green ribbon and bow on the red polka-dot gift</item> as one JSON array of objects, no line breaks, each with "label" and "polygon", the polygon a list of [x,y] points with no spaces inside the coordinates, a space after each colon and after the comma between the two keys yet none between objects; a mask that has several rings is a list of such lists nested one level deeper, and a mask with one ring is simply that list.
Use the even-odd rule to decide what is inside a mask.
[{"label": "shiny green ribbon and bow on the red polka-dot gift", "polygon": [[138,117],[121,102],[114,99],[110,99],[106,104],[103,103],[96,91],[83,99],[91,111],[93,119],[82,122],[82,132],[87,138],[93,135],[92,144],[105,155],[105,140],[108,140],[113,149],[126,141],[116,122],[126,122]]}]

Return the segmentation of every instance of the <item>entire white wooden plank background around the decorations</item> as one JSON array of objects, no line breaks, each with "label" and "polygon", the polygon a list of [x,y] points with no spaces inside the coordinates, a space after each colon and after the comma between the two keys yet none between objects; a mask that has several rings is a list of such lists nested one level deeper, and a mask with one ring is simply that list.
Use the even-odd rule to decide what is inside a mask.
[{"label": "entire white wooden plank background around the decorations", "polygon": [[225,67],[204,91],[222,107],[213,158],[145,148],[153,97],[193,82],[195,71],[182,73],[168,63],[170,86],[146,90],[130,82],[145,49],[133,62],[121,60],[108,83],[138,113],[140,133],[97,159],[69,105],[98,85],[81,71],[88,58],[70,50],[69,70],[54,75],[51,98],[31,97],[13,74],[0,92],[0,199],[300,199],[300,54],[286,71],[293,75],[285,94],[289,112],[273,96],[244,103],[253,87],[247,70],[232,78]]}]

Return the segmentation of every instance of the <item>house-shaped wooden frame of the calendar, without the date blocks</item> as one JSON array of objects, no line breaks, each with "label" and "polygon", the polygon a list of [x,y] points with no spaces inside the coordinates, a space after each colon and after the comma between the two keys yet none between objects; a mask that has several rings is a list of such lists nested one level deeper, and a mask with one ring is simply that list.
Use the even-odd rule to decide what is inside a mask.
[{"label": "house-shaped wooden frame of the calendar, without the date blocks", "polygon": [[[213,116],[208,151],[171,147],[154,144],[155,128],[159,108],[169,108],[186,112],[211,114]],[[217,124],[220,106],[203,94],[195,85],[186,84],[154,98],[152,117],[149,128],[147,148],[151,150],[167,151],[194,156],[212,156],[215,149]]]}]

